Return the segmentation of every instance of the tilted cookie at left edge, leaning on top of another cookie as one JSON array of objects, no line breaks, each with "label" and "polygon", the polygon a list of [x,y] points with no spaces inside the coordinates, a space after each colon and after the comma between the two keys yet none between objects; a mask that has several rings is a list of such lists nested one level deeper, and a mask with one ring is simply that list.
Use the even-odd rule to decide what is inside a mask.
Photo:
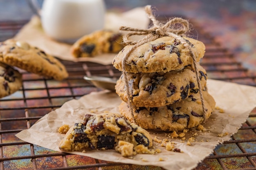
[{"label": "tilted cookie at left edge, leaning on top of another cookie", "polygon": [[55,57],[26,42],[13,39],[0,42],[0,62],[56,80],[68,76],[65,66]]}]

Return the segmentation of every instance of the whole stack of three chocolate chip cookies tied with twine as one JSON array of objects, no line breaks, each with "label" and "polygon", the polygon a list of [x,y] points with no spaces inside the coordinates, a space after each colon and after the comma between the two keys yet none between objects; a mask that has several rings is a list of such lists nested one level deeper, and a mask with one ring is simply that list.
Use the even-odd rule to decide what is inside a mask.
[{"label": "whole stack of three chocolate chip cookies tied with twine", "polygon": [[[202,42],[183,37],[191,47],[197,62],[204,56],[205,46]],[[179,40],[165,36],[127,51],[131,45],[125,46],[113,60],[113,66],[126,73],[128,87],[124,75],[116,85],[116,93],[123,100],[119,111],[130,121],[145,129],[179,131],[198,126],[203,118],[195,66],[189,49]],[[122,61],[126,57],[124,69]],[[207,73],[197,64],[202,88],[207,84]],[[130,102],[128,103],[129,88]],[[202,91],[205,118],[208,119],[215,101],[206,90]],[[132,107],[132,112],[131,109]]]}]

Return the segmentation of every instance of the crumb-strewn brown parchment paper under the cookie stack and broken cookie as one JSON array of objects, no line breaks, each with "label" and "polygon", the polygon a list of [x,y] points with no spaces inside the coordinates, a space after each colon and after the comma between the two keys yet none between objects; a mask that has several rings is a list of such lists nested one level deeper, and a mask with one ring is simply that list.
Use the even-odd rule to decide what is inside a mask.
[{"label": "crumb-strewn brown parchment paper under the cookie stack and broken cookie", "polygon": [[[170,132],[149,131],[153,138],[156,136],[158,139],[167,138],[174,141],[176,143],[175,148],[180,148],[183,153],[167,151],[156,142],[154,142],[154,146],[160,148],[162,152],[155,155],[139,154],[133,159],[122,157],[115,150],[70,153],[105,161],[160,166],[166,170],[191,170],[195,168],[200,161],[213,152],[217,144],[229,140],[230,136],[237,132],[241,124],[246,121],[252,109],[256,107],[256,88],[252,86],[212,79],[208,79],[207,84],[209,93],[216,100],[216,106],[222,108],[225,113],[219,113],[218,110],[215,110],[203,124],[207,131],[198,132],[198,135],[194,136],[196,141],[191,143],[191,146],[186,144],[186,140],[182,143],[180,139],[168,138]],[[72,126],[76,122],[81,122],[85,113],[91,113],[91,111],[94,113],[102,113],[103,111],[119,113],[117,107],[120,103],[121,99],[115,93],[110,91],[93,92],[80,99],[66,102],[61,108],[45,115],[31,128],[22,130],[16,136],[31,144],[60,151],[58,144],[64,137],[63,134],[57,132],[60,126],[63,124]],[[189,139],[192,133],[195,132],[189,130],[186,133],[186,139]],[[227,133],[227,135],[218,137],[218,134],[221,133]],[[159,158],[163,161],[159,161]]]}]

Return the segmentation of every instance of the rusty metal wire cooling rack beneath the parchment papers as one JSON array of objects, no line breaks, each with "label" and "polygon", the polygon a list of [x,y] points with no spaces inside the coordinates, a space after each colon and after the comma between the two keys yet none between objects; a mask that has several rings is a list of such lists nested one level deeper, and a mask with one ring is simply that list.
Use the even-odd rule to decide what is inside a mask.
[{"label": "rusty metal wire cooling rack beneath the parchment papers", "polygon": [[[27,21],[1,22],[0,41],[12,38]],[[208,77],[239,84],[256,86],[256,77],[250,77],[247,69],[237,62],[228,49],[222,48],[209,33],[191,20],[206,45],[206,53],[201,65]],[[196,34],[195,34],[196,35]],[[112,65],[103,66],[91,62],[62,61],[70,76],[62,82],[45,79],[22,71],[22,89],[13,95],[0,99],[0,170],[72,170],[72,169],[124,169],[161,170],[154,166],[137,166],[112,163],[55,152],[21,141],[15,134],[31,127],[38,119],[59,108],[70,99],[77,99],[92,91],[100,91],[83,80],[84,75],[119,77],[121,73]],[[256,109],[247,121],[232,136],[232,139],[219,144],[198,164],[196,170],[256,170]]]}]

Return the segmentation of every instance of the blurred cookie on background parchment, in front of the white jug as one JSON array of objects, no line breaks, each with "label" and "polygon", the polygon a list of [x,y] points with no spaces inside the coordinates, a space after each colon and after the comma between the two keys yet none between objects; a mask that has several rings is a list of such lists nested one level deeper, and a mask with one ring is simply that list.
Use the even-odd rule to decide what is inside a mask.
[{"label": "blurred cookie on background parchment, in front of the white jug", "polygon": [[108,30],[95,31],[77,40],[71,53],[74,57],[92,57],[101,53],[118,53],[124,46],[122,35]]}]

